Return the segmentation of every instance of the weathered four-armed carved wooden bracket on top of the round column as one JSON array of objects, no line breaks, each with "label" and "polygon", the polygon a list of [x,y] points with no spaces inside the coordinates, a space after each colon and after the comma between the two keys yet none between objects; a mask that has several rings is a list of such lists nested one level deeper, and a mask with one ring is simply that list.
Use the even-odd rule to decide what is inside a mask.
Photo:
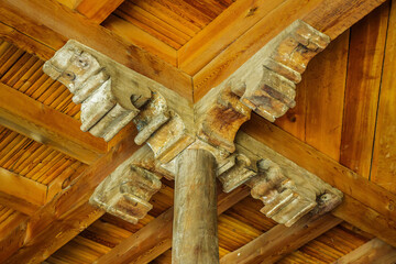
[{"label": "weathered four-armed carved wooden bracket on top of the round column", "polygon": [[[245,135],[237,139],[251,111],[274,121],[295,106],[295,88],[308,62],[330,38],[302,21],[279,33],[194,107],[164,86],[109,57],[69,41],[44,72],[81,103],[81,130],[111,140],[127,123],[146,143],[97,188],[91,202],[136,222],[151,209],[161,177],[175,177],[176,156],[187,148],[209,151],[224,191],[242,184],[264,202],[262,212],[293,224],[308,212],[331,210],[342,194],[315,175]],[[260,147],[258,147],[260,145]],[[257,148],[258,147],[258,148]]]}]

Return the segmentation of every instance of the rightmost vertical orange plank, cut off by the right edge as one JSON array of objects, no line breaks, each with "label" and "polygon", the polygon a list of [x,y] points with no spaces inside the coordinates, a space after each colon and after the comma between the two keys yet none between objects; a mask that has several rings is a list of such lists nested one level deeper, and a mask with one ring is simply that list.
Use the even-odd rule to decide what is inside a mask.
[{"label": "rightmost vertical orange plank, cut off by the right edge", "polygon": [[[396,193],[396,1],[392,1],[371,179]],[[394,207],[396,207],[394,205]]]}]

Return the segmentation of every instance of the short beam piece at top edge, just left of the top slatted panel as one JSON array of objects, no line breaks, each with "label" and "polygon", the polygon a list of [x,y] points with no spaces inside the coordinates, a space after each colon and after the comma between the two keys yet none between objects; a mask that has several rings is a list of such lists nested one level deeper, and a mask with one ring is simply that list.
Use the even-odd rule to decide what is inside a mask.
[{"label": "short beam piece at top edge, just left of the top slatted panel", "polygon": [[103,22],[124,0],[82,0],[76,8],[91,22]]}]

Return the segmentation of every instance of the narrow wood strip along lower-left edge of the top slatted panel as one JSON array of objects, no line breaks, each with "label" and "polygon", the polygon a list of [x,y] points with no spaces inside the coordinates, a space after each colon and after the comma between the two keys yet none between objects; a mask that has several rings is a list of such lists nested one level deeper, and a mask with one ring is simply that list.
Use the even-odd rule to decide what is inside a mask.
[{"label": "narrow wood strip along lower-left edge of the top slatted panel", "polygon": [[135,26],[134,24],[129,23],[128,21],[116,15],[110,15],[109,19],[103,22],[103,26],[128,40],[132,44],[140,46],[145,51],[161,57],[173,66],[176,66],[176,50]]}]

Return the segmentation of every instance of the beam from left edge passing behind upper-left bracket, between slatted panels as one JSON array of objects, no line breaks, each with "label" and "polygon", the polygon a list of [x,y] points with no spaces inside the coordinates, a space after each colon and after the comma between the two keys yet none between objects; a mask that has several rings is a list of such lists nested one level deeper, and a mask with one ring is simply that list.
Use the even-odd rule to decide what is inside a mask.
[{"label": "beam from left edge passing behind upper-left bracket, between slatted panels", "polygon": [[90,164],[107,144],[80,130],[80,122],[0,84],[0,123],[40,143]]}]

